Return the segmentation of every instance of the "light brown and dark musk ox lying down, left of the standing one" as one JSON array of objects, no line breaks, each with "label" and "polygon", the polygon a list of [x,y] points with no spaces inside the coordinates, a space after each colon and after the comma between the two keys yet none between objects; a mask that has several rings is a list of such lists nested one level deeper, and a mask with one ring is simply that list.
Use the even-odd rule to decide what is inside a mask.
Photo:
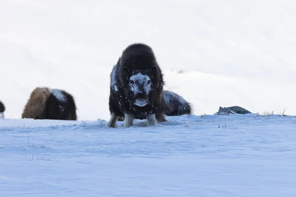
[{"label": "light brown and dark musk ox lying down, left of the standing one", "polygon": [[77,120],[74,98],[64,90],[37,87],[25,105],[22,118]]}]

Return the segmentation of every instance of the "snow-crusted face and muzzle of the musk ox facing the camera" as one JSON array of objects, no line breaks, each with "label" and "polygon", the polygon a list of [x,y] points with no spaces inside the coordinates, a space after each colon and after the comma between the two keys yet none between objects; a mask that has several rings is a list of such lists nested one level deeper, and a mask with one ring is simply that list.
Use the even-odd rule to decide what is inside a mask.
[{"label": "snow-crusted face and muzzle of the musk ox facing the camera", "polygon": [[148,75],[137,73],[129,79],[130,97],[134,104],[139,107],[144,107],[149,104],[148,95],[151,91],[151,79]]}]

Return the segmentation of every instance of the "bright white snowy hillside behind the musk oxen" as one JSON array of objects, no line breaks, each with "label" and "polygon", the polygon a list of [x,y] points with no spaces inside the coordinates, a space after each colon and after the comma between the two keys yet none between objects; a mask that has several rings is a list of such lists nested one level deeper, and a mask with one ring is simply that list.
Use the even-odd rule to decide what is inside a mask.
[{"label": "bright white snowy hillside behind the musk oxen", "polygon": [[111,68],[133,42],[153,48],[165,88],[197,115],[296,114],[295,10],[295,0],[1,0],[5,117],[47,86],[74,95],[79,120],[108,119]]}]

